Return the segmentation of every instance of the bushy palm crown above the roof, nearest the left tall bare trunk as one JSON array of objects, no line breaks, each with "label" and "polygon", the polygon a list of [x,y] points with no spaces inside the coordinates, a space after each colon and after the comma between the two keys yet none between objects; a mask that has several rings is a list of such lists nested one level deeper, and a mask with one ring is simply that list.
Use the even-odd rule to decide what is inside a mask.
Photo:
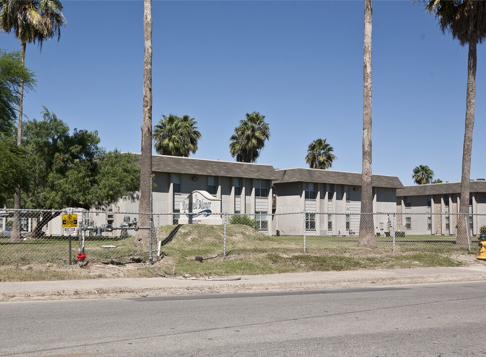
[{"label": "bushy palm crown above the roof, nearest the left tall bare trunk", "polygon": [[182,118],[169,114],[155,126],[155,150],[161,155],[188,157],[198,150],[198,140],[201,133],[197,130],[198,123],[188,115]]}]

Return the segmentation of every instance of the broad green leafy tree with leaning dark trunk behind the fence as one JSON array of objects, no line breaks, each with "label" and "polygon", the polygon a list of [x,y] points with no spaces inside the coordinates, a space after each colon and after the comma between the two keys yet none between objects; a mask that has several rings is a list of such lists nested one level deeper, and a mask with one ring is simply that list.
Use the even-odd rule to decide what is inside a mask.
[{"label": "broad green leafy tree with leaning dark trunk behind the fence", "polygon": [[[22,204],[31,209],[103,208],[120,198],[135,198],[139,187],[138,159],[99,146],[97,131],[74,129],[43,111],[43,120],[24,123],[24,144],[30,181]],[[40,218],[33,236],[58,213]]]}]

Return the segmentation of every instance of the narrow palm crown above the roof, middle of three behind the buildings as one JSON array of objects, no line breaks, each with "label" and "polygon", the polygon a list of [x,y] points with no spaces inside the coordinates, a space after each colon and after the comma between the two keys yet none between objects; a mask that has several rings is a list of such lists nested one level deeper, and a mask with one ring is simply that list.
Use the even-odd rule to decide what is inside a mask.
[{"label": "narrow palm crown above the roof, middle of three behind the buildings", "polygon": [[240,120],[229,138],[229,153],[238,162],[256,162],[265,147],[265,140],[269,139],[270,126],[265,122],[265,116],[259,112],[246,113],[246,119]]}]

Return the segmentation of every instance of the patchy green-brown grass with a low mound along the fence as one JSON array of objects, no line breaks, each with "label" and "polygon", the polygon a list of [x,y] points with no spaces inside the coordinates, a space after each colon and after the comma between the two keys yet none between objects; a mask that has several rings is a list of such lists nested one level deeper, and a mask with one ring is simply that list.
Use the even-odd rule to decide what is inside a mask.
[{"label": "patchy green-brown grass with a low mound along the fence", "polygon": [[[359,248],[357,238],[269,237],[251,227],[227,225],[226,241],[222,226],[162,226],[162,260],[153,268],[171,274],[254,275],[328,270],[460,266],[468,257],[451,239],[416,237],[395,241],[379,238],[378,247]],[[72,254],[77,254],[73,241]],[[101,245],[115,245],[101,249]],[[66,280],[117,277],[150,277],[151,267],[130,263],[147,261],[147,249],[133,246],[133,238],[92,239],[86,242],[89,264],[83,269],[68,265],[67,240],[43,238],[17,244],[0,241],[0,281]],[[16,254],[16,255],[15,255]],[[471,256],[471,255],[469,255]],[[20,259],[19,259],[20,257]],[[196,261],[202,257],[202,262]],[[17,259],[17,261],[13,258]],[[118,263],[121,265],[102,264]]]}]

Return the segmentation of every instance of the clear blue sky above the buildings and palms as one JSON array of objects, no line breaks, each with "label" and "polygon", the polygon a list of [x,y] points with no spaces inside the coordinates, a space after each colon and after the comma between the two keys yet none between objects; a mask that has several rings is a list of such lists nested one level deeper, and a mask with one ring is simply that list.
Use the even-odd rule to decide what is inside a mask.
[{"label": "clear blue sky above the buildings and palms", "polygon": [[[42,106],[70,128],[98,130],[102,146],[140,152],[143,2],[63,1],[67,26],[42,52],[27,46]],[[259,111],[271,137],[258,163],[307,167],[326,138],[331,170],[361,172],[364,1],[154,1],[153,123],[169,113],[198,121],[192,157],[232,161],[229,137]],[[20,49],[0,34],[0,48]],[[471,178],[486,177],[486,45],[478,46]],[[428,165],[460,181],[467,47],[443,35],[410,1],[373,3],[373,173],[413,184]],[[155,150],[154,150],[155,153]]]}]

